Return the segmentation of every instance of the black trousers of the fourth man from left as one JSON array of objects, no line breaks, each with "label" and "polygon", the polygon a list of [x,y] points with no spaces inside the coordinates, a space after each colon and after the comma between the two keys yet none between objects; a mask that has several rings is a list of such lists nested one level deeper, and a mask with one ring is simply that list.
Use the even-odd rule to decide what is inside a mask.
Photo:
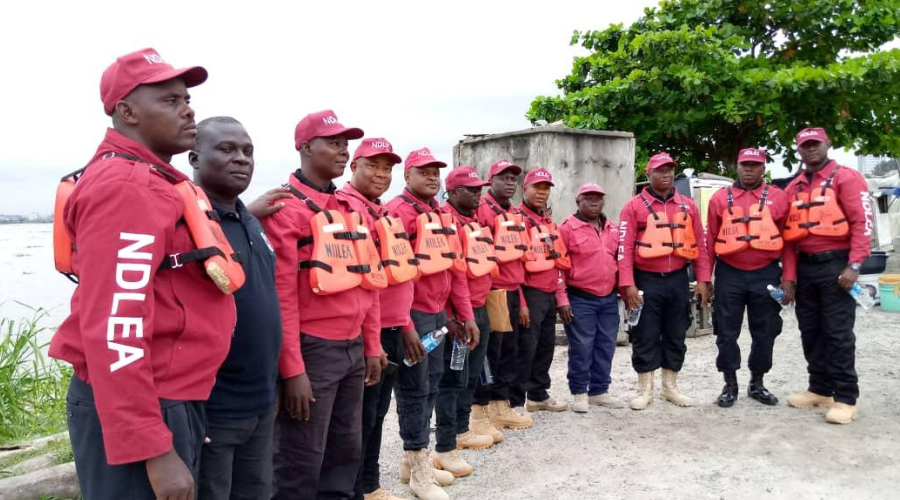
[{"label": "black trousers of the fourth man from left", "polygon": [[[397,357],[397,353],[404,352],[403,337],[400,328],[381,329],[381,348],[388,354],[388,361],[403,363],[403,357]],[[381,372],[381,381],[366,387],[363,392],[362,409],[362,465],[356,476],[355,496],[356,500],[362,500],[363,495],[372,493],[381,487],[381,470],[378,459],[381,457],[381,436],[384,427],[384,417],[391,407],[391,391],[397,381],[398,370],[388,375]]]}]

